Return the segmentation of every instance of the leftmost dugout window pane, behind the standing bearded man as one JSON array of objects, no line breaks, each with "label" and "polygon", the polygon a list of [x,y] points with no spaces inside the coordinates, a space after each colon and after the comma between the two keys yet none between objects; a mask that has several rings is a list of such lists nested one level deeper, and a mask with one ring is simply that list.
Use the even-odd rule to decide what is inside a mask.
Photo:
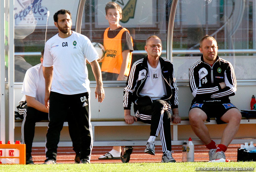
[{"label": "leftmost dugout window pane, behind the standing bearded man", "polygon": [[[68,8],[73,14],[72,21],[75,23],[78,4],[79,0],[68,3],[68,6],[60,6],[59,1],[51,0],[14,0],[15,82],[23,82],[26,70],[40,63],[38,56],[44,48],[45,38],[48,40],[58,33],[53,21],[53,15],[58,8]],[[46,25],[47,21],[48,25]],[[72,30],[74,28],[73,26]],[[37,55],[30,55],[31,52],[36,52]],[[6,66],[8,66],[8,56]],[[7,68],[5,73],[8,81]]]}]

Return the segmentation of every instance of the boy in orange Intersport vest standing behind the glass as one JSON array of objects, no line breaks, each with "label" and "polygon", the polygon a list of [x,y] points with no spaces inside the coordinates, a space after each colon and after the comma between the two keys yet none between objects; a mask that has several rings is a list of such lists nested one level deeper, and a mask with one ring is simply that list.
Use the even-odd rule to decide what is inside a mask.
[{"label": "boy in orange Intersport vest standing behind the glass", "polygon": [[122,9],[115,2],[105,7],[109,27],[103,34],[105,56],[101,64],[102,80],[126,80],[132,61],[133,42],[130,32],[119,24]]}]

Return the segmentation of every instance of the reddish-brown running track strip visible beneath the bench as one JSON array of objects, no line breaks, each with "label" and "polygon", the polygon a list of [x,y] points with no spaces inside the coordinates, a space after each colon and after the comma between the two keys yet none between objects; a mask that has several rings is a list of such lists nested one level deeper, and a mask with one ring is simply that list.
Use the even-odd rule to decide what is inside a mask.
[{"label": "reddish-brown running track strip visible beneath the bench", "polygon": [[[228,150],[225,152],[226,159],[230,161],[237,161],[237,148],[240,148],[239,144],[231,144]],[[98,157],[110,151],[112,147],[98,147],[95,146],[92,149],[91,163],[122,163],[121,160],[98,160]],[[129,163],[148,163],[148,162],[161,162],[162,159],[162,148],[156,146],[156,155],[150,155],[144,153],[144,146],[134,146],[133,152]],[[182,158],[182,145],[173,145],[172,154],[176,162],[181,162]],[[195,162],[198,161],[209,161],[208,149],[205,145],[195,145]],[[44,147],[33,147],[32,156],[35,164],[42,164],[45,160],[45,148]],[[75,153],[72,147],[59,147],[57,155],[57,163],[74,163]]]}]

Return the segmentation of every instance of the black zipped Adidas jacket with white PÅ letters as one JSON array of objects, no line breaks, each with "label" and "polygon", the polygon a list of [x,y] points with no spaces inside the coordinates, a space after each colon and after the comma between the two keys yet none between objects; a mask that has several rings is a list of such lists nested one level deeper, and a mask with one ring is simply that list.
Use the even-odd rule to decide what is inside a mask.
[{"label": "black zipped Adidas jacket with white P\u00c5 letters", "polygon": [[[226,87],[221,89],[220,82]],[[229,101],[237,90],[237,82],[233,66],[230,62],[217,56],[216,62],[210,66],[204,62],[203,56],[189,68],[189,87],[194,102]]]}]

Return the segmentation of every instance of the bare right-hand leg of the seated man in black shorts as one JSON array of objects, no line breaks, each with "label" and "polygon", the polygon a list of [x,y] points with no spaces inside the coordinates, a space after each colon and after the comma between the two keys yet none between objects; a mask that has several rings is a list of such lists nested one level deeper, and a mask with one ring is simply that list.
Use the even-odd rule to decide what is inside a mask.
[{"label": "bare right-hand leg of the seated man in black shorts", "polygon": [[234,136],[237,134],[239,129],[240,121],[242,115],[240,111],[236,108],[228,110],[220,119],[228,125],[222,133],[222,138],[220,144],[228,147],[230,142],[233,140]]}]

